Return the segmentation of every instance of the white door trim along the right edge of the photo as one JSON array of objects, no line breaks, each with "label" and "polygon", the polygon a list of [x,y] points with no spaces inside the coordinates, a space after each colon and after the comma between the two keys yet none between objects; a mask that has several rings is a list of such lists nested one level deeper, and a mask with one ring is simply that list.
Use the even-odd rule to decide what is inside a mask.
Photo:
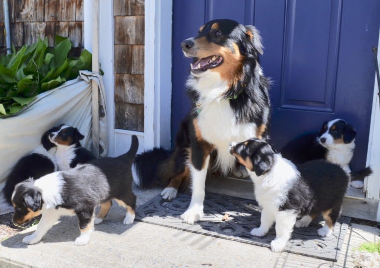
[{"label": "white door trim along the right edge of the photo", "polygon": [[[380,37],[378,48],[380,48]],[[380,62],[379,51],[378,61]],[[380,200],[380,106],[376,74],[373,96],[374,97],[372,102],[371,127],[367,152],[367,165],[371,166],[373,174],[366,179],[365,189],[367,192],[367,198]],[[380,221],[380,212],[378,213],[378,220]]]}]

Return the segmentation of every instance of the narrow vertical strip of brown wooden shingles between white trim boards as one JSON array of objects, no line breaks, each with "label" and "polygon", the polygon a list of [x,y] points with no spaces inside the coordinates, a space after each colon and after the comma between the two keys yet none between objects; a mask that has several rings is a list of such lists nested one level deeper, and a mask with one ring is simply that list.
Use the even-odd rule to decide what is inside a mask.
[{"label": "narrow vertical strip of brown wooden shingles between white trim boards", "polygon": [[115,128],[144,131],[144,0],[114,0]]}]

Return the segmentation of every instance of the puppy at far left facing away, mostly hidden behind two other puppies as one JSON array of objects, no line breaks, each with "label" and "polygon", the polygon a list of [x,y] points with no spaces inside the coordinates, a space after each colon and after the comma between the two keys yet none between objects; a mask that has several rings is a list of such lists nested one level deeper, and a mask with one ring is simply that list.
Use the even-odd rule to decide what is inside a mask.
[{"label": "puppy at far left facing away, mostly hidden behind two other puppies", "polygon": [[16,184],[29,178],[38,179],[58,170],[55,157],[57,146],[49,139],[49,135],[55,131],[57,131],[57,128],[52,128],[45,132],[41,137],[41,144],[30,154],[20,158],[6,177],[2,191],[5,200],[9,204]]}]

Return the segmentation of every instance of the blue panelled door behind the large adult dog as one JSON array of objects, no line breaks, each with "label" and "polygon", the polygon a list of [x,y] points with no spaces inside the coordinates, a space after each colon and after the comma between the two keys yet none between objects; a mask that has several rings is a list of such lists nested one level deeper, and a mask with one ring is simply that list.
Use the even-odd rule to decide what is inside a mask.
[{"label": "blue panelled door behind the large adult dog", "polygon": [[230,18],[261,32],[261,66],[273,81],[273,144],[280,148],[325,120],[342,118],[358,131],[352,168],[365,166],[379,0],[174,0],[173,13],[172,140],[190,109],[190,60],[180,43],[206,21]]}]

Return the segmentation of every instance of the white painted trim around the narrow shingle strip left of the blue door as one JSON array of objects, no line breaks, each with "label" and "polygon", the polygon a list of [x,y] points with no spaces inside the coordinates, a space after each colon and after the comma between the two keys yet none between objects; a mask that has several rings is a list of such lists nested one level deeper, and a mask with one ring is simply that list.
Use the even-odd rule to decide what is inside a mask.
[{"label": "white painted trim around the narrow shingle strip left of the blue door", "polygon": [[[114,1],[100,0],[99,61],[104,73],[109,156],[139,138],[139,151],[170,148],[172,94],[172,0],[145,1],[144,132],[115,129]],[[84,47],[92,52],[92,0],[84,0]]]}]

